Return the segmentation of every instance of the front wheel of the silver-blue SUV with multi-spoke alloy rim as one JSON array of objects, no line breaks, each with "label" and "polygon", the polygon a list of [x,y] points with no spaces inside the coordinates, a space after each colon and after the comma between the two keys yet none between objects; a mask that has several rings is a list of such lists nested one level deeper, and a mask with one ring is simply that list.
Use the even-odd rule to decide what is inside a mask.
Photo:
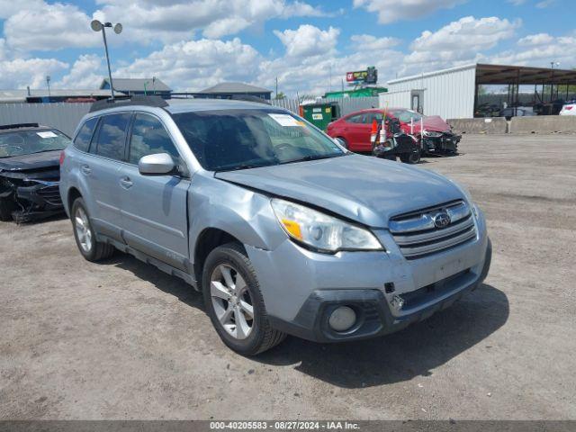
[{"label": "front wheel of the silver-blue SUV with multi-spoke alloy rim", "polygon": [[270,326],[256,271],[238,243],[211,251],[202,271],[202,293],[214,329],[239,354],[256,356],[286,337]]}]

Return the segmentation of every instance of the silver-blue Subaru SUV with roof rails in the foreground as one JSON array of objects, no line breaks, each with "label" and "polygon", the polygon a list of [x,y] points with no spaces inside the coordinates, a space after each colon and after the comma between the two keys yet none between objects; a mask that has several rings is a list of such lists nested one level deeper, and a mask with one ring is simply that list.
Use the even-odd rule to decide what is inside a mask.
[{"label": "silver-blue Subaru SUV with roof rails in the foreground", "polygon": [[256,355],[403,329],[475,289],[482,211],[442,175],[355,155],[264,103],[94,104],[61,157],[89,261],[127,252],[202,291],[224,343]]}]

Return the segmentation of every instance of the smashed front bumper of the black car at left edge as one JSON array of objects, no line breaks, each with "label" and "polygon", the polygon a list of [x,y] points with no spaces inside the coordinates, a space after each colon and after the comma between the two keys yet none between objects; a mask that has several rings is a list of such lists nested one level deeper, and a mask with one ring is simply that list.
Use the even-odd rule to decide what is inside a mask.
[{"label": "smashed front bumper of the black car at left edge", "polygon": [[0,177],[0,199],[14,202],[17,223],[39,220],[63,210],[58,181]]}]

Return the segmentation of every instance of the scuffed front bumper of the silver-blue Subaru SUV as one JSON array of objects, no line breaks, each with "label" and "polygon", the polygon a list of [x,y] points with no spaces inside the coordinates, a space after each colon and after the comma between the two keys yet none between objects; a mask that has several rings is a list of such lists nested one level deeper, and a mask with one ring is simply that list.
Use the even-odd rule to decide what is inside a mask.
[{"label": "scuffed front bumper of the silver-blue Subaru SUV", "polygon": [[[320,254],[284,241],[275,250],[247,246],[272,326],[299,338],[338,342],[404,329],[446,309],[482,284],[491,266],[483,216],[478,236],[428,257],[407,260],[386,229],[385,252]],[[298,269],[298,271],[294,271]],[[356,313],[346,331],[329,327],[338,308]]]}]

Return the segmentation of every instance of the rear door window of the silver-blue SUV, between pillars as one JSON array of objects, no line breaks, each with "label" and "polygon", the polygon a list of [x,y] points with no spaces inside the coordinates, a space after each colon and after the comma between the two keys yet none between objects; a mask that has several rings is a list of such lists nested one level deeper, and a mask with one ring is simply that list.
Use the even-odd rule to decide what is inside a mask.
[{"label": "rear door window of the silver-blue SUV, between pillars", "polygon": [[[122,160],[124,158],[124,146],[126,143],[126,130],[130,123],[130,112],[108,114],[102,117],[98,128],[98,137],[92,144],[94,153],[111,159]],[[91,148],[91,152],[92,152]]]}]

